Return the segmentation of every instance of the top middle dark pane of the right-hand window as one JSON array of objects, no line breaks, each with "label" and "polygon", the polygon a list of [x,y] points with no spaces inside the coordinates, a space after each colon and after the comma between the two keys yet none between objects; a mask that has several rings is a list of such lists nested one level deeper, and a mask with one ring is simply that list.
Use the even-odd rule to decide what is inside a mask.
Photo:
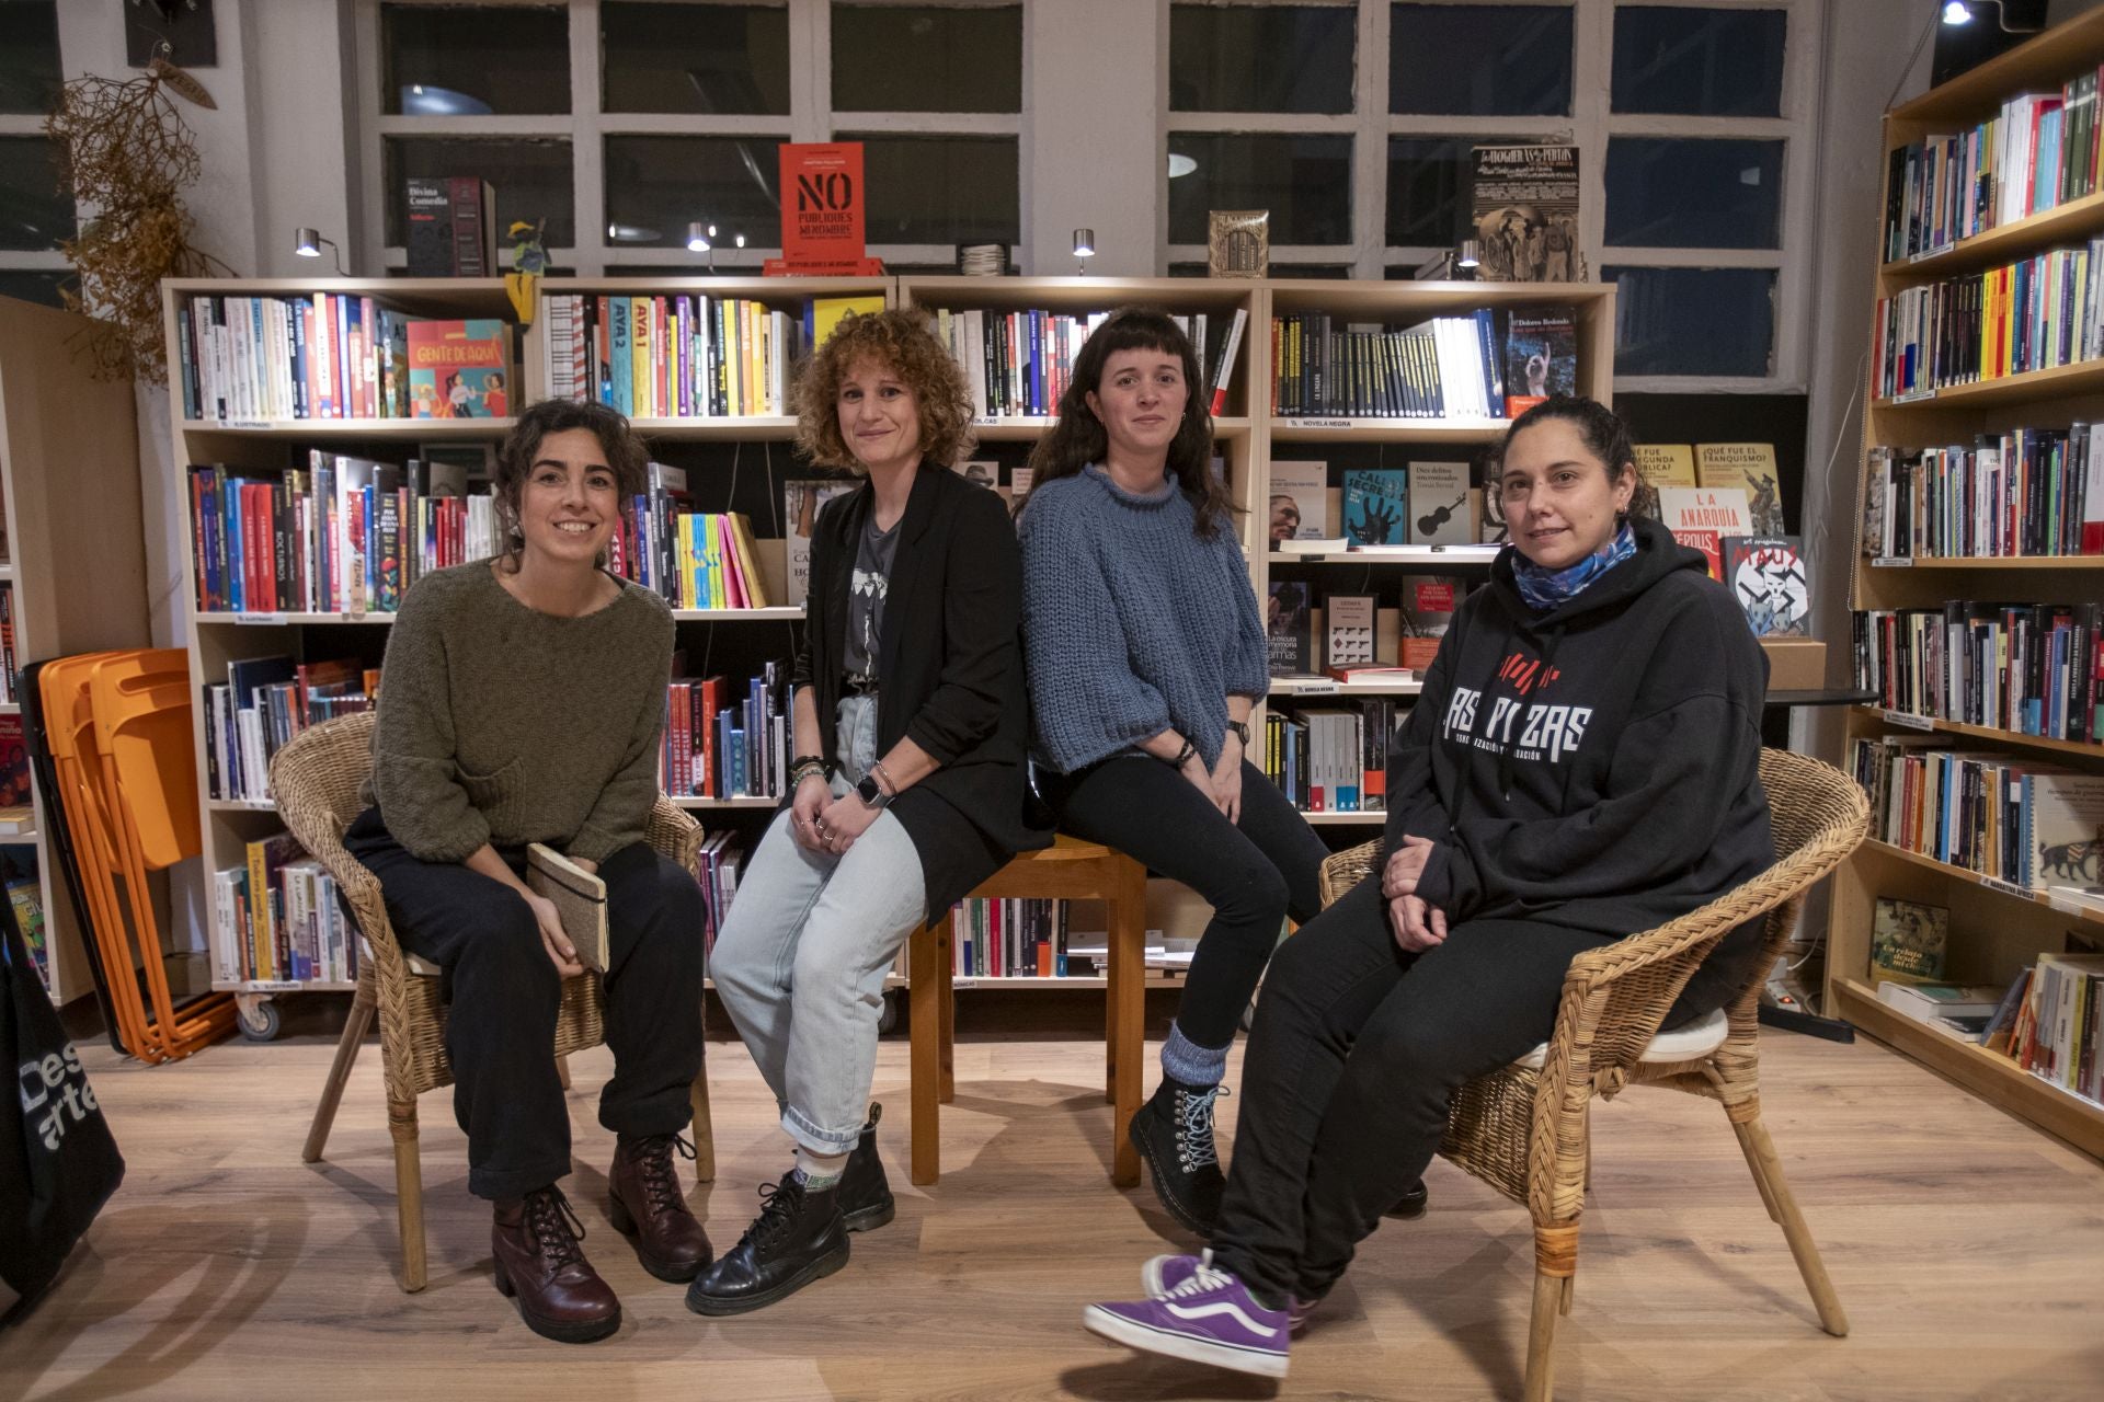
[{"label": "top middle dark pane of the right-hand window", "polygon": [[1395,4],[1389,11],[1389,111],[1567,116],[1567,4]]}]

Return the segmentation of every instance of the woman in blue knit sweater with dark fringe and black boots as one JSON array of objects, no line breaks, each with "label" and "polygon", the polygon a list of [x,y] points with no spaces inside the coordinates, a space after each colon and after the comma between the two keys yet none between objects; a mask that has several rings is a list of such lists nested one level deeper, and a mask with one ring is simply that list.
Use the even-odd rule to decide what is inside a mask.
[{"label": "woman in blue knit sweater with dark fringe and black boots", "polygon": [[1090,334],[1031,454],[1023,633],[1039,784],[1060,828],[1214,908],[1161,1087],[1130,1131],[1161,1204],[1210,1234],[1227,1049],[1283,916],[1321,906],[1326,849],[1243,759],[1269,683],[1265,626],[1197,385],[1191,343],[1159,311],[1119,311]]}]

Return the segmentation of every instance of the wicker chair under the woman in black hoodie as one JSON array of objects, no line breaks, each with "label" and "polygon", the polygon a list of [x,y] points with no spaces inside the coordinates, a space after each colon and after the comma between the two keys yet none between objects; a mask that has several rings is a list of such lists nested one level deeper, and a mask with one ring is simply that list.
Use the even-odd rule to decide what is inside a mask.
[{"label": "wicker chair under the woman in black hoodie", "polygon": [[[1591,1101],[1626,1085],[1723,1101],[1753,1185],[1782,1225],[1820,1324],[1837,1337],[1847,1333],[1841,1299],[1761,1125],[1757,1007],[1761,982],[1797,927],[1805,889],[1862,841],[1868,805],[1862,788],[1833,765],[1782,750],[1761,750],[1761,784],[1774,809],[1776,864],[1700,910],[1574,958],[1549,1043],[1454,1095],[1439,1154],[1525,1202],[1534,1217],[1528,1402],[1546,1402],[1551,1394],[1557,1314],[1572,1307]],[[1363,881],[1378,860],[1380,843],[1332,855],[1321,870],[1323,904]],[[1763,912],[1767,937],[1746,988],[1723,1011],[1660,1034],[1658,1024],[1702,956]]]}]

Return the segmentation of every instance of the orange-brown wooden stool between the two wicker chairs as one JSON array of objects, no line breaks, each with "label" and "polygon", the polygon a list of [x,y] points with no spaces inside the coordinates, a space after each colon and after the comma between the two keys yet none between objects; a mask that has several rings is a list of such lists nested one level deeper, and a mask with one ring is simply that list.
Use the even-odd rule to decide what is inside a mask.
[{"label": "orange-brown wooden stool between the two wicker chairs", "polygon": [[[972,895],[989,900],[1100,900],[1109,950],[1105,967],[1105,1099],[1111,1114],[1111,1181],[1140,1181],[1140,1156],[1126,1125],[1140,1108],[1147,1055],[1147,868],[1100,843],[1058,837],[993,872]],[[943,1175],[940,1106],[955,1095],[957,1009],[951,994],[949,916],[913,931],[907,965],[913,1007],[913,1167],[915,1183]]]}]

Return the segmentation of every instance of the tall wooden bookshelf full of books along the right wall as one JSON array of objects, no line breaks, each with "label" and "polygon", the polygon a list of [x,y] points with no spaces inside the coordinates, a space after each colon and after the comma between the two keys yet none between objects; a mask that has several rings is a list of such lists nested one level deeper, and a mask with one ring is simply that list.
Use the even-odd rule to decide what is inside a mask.
[{"label": "tall wooden bookshelf full of books along the right wall", "polygon": [[2104,13],[1885,118],[1826,1011],[2104,1156]]}]

